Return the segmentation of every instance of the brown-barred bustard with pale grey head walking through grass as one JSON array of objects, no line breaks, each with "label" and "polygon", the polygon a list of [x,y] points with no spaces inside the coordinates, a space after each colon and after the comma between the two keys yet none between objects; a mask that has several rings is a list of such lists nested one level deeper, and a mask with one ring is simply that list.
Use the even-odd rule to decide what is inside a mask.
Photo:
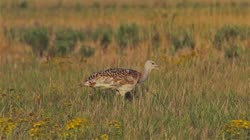
[{"label": "brown-barred bustard with pale grey head walking through grass", "polygon": [[127,92],[134,89],[136,84],[145,81],[152,69],[159,69],[152,60],[146,61],[143,73],[132,69],[110,68],[93,73],[83,85],[113,89],[117,91],[117,94],[125,96]]}]

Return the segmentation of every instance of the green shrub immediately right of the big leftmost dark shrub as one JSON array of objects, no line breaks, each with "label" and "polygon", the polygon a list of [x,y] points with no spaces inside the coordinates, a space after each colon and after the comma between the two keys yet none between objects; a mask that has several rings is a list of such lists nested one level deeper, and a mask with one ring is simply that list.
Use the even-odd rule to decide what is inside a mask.
[{"label": "green shrub immediately right of the big leftmost dark shrub", "polygon": [[55,53],[66,55],[74,50],[78,33],[73,29],[60,29],[56,32]]}]

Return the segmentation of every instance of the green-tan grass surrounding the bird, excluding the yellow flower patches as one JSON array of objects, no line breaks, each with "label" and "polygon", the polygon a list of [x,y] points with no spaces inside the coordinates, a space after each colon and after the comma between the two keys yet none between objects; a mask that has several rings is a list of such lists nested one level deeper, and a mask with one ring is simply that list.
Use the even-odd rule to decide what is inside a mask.
[{"label": "green-tan grass surrounding the bird, excluding the yellow flower patches", "polygon": [[[104,126],[117,120],[123,124],[120,139],[218,139],[230,120],[250,119],[249,63],[247,57],[237,64],[204,59],[176,66],[162,61],[161,70],[144,83],[143,95],[124,104],[112,91],[76,88],[97,70],[91,64],[6,64],[0,68],[0,96],[6,94],[0,113],[30,123],[48,118],[62,128],[72,118],[87,118],[91,127],[75,138],[107,133],[115,139]],[[29,139],[31,126],[22,127],[9,138]]]}]

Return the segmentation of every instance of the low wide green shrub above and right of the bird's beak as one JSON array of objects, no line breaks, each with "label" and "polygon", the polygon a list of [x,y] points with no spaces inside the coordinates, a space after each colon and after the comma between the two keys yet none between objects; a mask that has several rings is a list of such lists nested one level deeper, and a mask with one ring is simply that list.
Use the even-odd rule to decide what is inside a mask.
[{"label": "low wide green shrub above and right of the bird's beak", "polygon": [[174,51],[178,51],[182,48],[195,48],[195,40],[193,37],[193,33],[185,30],[179,33],[173,33],[171,36],[171,44]]}]

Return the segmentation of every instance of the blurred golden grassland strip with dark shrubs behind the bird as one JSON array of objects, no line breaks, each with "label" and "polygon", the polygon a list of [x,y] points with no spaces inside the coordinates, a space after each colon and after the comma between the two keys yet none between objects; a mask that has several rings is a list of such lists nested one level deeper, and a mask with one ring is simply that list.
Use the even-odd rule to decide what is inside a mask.
[{"label": "blurred golden grassland strip with dark shrubs behind the bird", "polygon": [[247,0],[4,0],[1,48],[13,52],[21,46],[17,56],[32,52],[40,58],[116,58],[131,49],[142,60],[188,51],[237,58],[249,48],[249,5]]}]

